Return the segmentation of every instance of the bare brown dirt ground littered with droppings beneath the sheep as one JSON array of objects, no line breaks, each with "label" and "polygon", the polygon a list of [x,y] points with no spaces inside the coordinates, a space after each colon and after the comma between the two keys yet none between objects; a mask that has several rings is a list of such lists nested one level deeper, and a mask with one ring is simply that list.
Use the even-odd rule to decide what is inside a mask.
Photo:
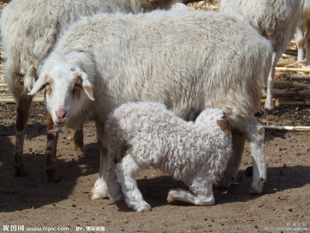
[{"label": "bare brown dirt ground littered with droppings beneath the sheep", "polygon": [[[265,228],[286,228],[310,224],[310,142],[309,132],[265,132],[268,181],[261,195],[246,190],[251,165],[246,143],[237,180],[227,192],[215,191],[215,206],[167,203],[170,188],[183,187],[162,172],[149,169],[139,173],[137,182],[150,212],[133,212],[124,202],[91,200],[90,191],[99,172],[99,150],[93,122],[84,128],[84,151],[72,151],[73,130],[64,129],[58,143],[59,183],[47,182],[43,169],[46,143],[44,105],[34,103],[24,143],[28,175],[15,177],[15,105],[0,104],[0,232],[2,225],[26,227],[69,227],[68,231],[100,232],[280,232]],[[309,125],[308,107],[276,107],[274,116],[256,114],[263,124]],[[94,228],[86,228],[94,226]],[[300,225],[299,225],[300,226]],[[97,229],[97,230],[94,230]],[[14,231],[12,231],[14,232]],[[30,231],[28,231],[30,232]],[[39,232],[39,231],[31,231]],[[42,231],[43,232],[43,231]],[[52,231],[55,232],[55,231]],[[283,230],[283,232],[289,232]],[[303,232],[303,231],[292,231]]]}]

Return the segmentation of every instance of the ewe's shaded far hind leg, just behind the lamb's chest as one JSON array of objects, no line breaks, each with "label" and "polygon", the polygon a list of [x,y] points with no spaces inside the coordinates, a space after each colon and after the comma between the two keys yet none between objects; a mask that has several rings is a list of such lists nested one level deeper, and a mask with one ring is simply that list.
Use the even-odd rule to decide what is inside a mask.
[{"label": "ewe's shaded far hind leg, just behind the lamb's chest", "polygon": [[232,129],[233,155],[227,164],[226,171],[221,177],[218,187],[228,189],[232,180],[235,180],[239,171],[246,135],[237,129]]}]

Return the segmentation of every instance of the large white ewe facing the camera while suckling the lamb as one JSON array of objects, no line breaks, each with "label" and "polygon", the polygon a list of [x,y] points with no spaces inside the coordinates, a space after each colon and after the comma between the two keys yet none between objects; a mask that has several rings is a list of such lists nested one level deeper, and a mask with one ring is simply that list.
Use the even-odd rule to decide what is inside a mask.
[{"label": "large white ewe facing the camera while suckling the lamb", "polygon": [[101,143],[107,115],[122,103],[139,100],[165,103],[184,119],[207,107],[223,109],[234,127],[235,154],[220,184],[229,186],[236,178],[247,137],[254,170],[249,193],[261,193],[264,129],[254,113],[270,61],[267,39],[221,13],[100,14],[64,34],[29,94],[46,88],[46,107],[58,126],[74,128],[95,120],[101,160],[93,199],[107,195]]}]

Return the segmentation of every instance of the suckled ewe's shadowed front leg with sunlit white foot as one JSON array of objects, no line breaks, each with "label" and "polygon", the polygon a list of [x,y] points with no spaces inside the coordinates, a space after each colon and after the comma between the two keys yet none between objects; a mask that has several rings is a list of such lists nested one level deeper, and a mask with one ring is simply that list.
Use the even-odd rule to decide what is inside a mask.
[{"label": "suckled ewe's shadowed front leg with sunlit white foot", "polygon": [[98,174],[98,179],[95,182],[93,189],[91,190],[91,199],[101,199],[108,197],[108,187],[106,183],[106,170],[108,164],[108,149],[103,144],[104,137],[104,123],[101,121],[95,121],[96,133],[97,133],[97,143],[100,151],[100,171]]}]

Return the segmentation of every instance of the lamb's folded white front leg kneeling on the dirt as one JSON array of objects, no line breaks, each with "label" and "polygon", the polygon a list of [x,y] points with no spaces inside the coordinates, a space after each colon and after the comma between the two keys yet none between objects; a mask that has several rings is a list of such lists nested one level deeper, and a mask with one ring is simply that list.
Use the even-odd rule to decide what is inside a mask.
[{"label": "lamb's folded white front leg kneeling on the dirt", "polygon": [[170,189],[167,201],[184,201],[195,205],[214,205],[212,184],[208,183],[206,179],[195,180],[191,189],[195,195],[184,189]]}]

